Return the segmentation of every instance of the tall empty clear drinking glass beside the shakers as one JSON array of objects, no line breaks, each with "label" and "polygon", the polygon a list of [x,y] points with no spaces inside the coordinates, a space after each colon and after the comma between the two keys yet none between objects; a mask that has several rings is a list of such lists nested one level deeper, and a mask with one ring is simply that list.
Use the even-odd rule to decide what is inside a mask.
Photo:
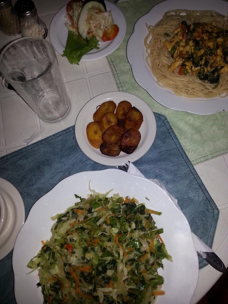
[{"label": "tall empty clear drinking glass beside the shakers", "polygon": [[43,120],[55,122],[70,110],[70,100],[55,50],[43,38],[20,38],[0,55],[0,72]]}]

